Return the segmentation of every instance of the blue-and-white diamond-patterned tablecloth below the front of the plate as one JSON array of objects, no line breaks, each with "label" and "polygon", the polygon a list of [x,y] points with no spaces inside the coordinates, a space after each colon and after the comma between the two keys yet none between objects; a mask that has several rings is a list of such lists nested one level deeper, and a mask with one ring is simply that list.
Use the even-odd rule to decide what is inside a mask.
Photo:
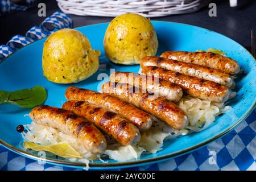
[{"label": "blue-and-white diamond-patterned tablecloth below the front of the plate", "polygon": [[[74,170],[39,164],[0,146],[2,170]],[[126,170],[256,170],[256,110],[224,137],[177,158]],[[75,169],[77,170],[77,169]]]}]

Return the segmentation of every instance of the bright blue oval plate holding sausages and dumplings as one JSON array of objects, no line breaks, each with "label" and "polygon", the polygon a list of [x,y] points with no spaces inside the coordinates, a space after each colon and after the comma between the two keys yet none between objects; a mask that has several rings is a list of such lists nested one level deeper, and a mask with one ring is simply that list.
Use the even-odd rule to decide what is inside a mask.
[{"label": "bright blue oval plate holding sausages and dumplings", "polygon": [[[234,40],[216,32],[204,28],[190,26],[187,24],[157,22],[152,21],[159,40],[158,55],[163,51],[196,51],[197,49],[216,48],[226,52],[227,56],[237,60],[241,68],[245,71],[242,78],[238,78],[236,92],[237,97],[229,102],[233,107],[228,113],[217,117],[216,122],[208,129],[200,133],[193,133],[174,140],[164,142],[163,150],[156,154],[142,155],[141,159],[130,160],[127,162],[116,162],[109,160],[108,163],[94,161],[90,163],[93,169],[109,169],[121,167],[133,167],[148,163],[159,162],[160,160],[170,159],[175,156],[185,154],[195,150],[205,144],[212,142],[214,139],[221,137],[228,131],[232,130],[244,119],[255,105],[256,90],[256,63],[253,56],[250,55]],[[97,80],[99,73],[109,75],[110,68],[115,71],[138,72],[138,65],[116,65],[106,59],[103,48],[103,39],[108,23],[95,24],[76,28],[85,34],[92,44],[93,49],[101,51],[100,63],[106,65],[106,69],[100,69],[92,77],[78,84],[73,84],[81,88],[97,90],[97,86],[108,80]],[[31,88],[35,85],[42,85],[47,89],[47,105],[61,107],[65,102],[65,89],[70,85],[54,84],[43,77],[42,71],[42,50],[43,43],[46,39],[39,40],[22,49],[16,51],[13,55],[7,57],[0,64],[0,89],[1,90],[18,90]],[[104,66],[102,67],[104,68]],[[31,122],[29,117],[24,117],[30,109],[21,109],[11,105],[0,105],[0,143],[10,150],[20,155],[32,159],[39,159],[39,156],[31,151],[26,151],[22,147],[22,137],[16,132],[15,128],[21,124]],[[48,163],[59,164],[69,167],[84,167],[82,163],[69,162],[67,159],[55,159],[54,156],[47,156],[45,159]]]}]

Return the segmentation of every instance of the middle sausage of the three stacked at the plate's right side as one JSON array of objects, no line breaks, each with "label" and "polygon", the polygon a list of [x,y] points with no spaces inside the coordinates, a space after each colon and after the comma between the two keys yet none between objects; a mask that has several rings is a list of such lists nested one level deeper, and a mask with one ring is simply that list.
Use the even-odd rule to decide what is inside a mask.
[{"label": "middle sausage of the three stacked at the plate's right side", "polygon": [[164,57],[147,56],[141,60],[141,67],[160,67],[184,75],[195,76],[204,80],[214,81],[218,84],[225,85],[228,88],[234,88],[235,83],[227,73],[217,69],[204,67],[198,64],[185,63],[167,59]]}]

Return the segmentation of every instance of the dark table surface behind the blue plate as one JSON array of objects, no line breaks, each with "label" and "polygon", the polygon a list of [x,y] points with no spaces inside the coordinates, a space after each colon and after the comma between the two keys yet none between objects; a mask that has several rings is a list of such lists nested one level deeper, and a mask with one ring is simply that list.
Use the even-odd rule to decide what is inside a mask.
[{"label": "dark table surface behind the blue plate", "polygon": [[[53,0],[41,1],[46,3],[47,16],[59,10],[57,2]],[[226,35],[236,40],[244,47],[249,47],[251,28],[256,31],[256,1],[238,0],[237,7],[229,7],[228,0],[212,1],[217,4],[217,17],[208,15],[209,8],[204,7],[196,13],[171,15],[161,18],[151,18],[152,20],[163,20],[168,22],[187,23],[195,26],[208,28],[220,34]],[[46,17],[38,16],[37,5],[27,11],[17,11],[0,16],[1,36],[0,44],[6,44],[10,38],[16,34],[25,35],[26,32],[35,25],[43,22]],[[113,18],[96,16],[71,15],[74,27],[86,26],[102,22],[110,22]]]}]

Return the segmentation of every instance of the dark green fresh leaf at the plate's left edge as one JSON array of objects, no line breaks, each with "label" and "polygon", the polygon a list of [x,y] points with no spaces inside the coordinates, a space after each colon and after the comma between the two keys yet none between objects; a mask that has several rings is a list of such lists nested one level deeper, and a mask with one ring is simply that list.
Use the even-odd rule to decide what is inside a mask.
[{"label": "dark green fresh leaf at the plate's left edge", "polygon": [[12,104],[19,107],[31,108],[46,101],[46,89],[43,86],[34,86],[31,89],[6,92],[0,90],[0,104]]}]

